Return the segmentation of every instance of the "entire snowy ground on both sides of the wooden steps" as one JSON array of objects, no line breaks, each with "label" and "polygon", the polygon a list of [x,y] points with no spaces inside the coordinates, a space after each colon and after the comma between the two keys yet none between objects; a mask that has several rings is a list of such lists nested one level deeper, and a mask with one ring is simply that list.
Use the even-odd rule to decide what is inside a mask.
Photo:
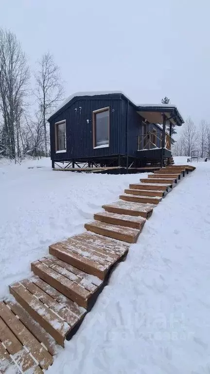
[{"label": "entire snowy ground on both sides of the wooden steps", "polygon": [[[210,162],[194,165],[154,209],[49,374],[210,373]],[[82,232],[139,178],[53,172],[47,159],[0,165],[0,297],[50,243]]]}]

